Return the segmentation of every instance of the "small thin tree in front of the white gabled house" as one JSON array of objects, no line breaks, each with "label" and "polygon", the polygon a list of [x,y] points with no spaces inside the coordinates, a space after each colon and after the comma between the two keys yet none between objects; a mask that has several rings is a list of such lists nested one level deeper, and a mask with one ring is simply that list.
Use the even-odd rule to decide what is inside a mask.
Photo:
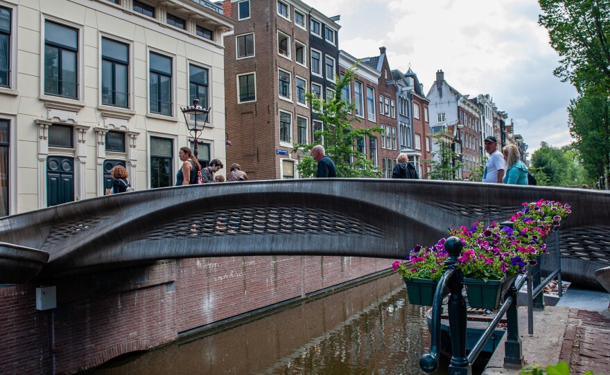
[{"label": "small thin tree in front of the white gabled house", "polygon": [[428,163],[432,168],[428,170],[426,176],[433,180],[458,180],[456,175],[463,163],[458,160],[458,154],[453,151],[453,140],[448,138],[447,131],[440,131],[432,136],[437,149],[432,153],[432,159],[421,161],[421,163]]}]

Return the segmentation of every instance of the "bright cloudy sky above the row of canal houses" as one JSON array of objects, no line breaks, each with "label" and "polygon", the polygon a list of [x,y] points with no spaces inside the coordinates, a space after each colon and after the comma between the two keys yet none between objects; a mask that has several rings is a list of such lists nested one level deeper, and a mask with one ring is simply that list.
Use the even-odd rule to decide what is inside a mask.
[{"label": "bright cloudy sky above the row of canal houses", "polygon": [[471,98],[489,94],[529,145],[570,143],[568,113],[574,87],[552,71],[559,55],[538,24],[536,0],[306,0],[338,21],[339,48],[363,58],[387,48],[390,68],[410,66],[424,93],[442,69],[445,80]]}]

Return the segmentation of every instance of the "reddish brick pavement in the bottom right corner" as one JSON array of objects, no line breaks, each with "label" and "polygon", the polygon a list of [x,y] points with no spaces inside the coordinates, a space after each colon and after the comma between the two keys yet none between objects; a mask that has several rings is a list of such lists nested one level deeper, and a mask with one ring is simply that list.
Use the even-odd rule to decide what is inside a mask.
[{"label": "reddish brick pavement in the bottom right corner", "polygon": [[559,360],[570,374],[610,375],[610,314],[572,309]]}]

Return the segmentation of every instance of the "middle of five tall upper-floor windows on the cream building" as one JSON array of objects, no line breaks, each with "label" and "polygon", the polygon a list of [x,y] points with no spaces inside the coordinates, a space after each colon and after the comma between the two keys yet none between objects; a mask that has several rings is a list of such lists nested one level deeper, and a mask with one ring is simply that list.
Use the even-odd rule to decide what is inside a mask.
[{"label": "middle of five tall upper-floor windows on the cream building", "polygon": [[102,38],[102,104],[129,107],[129,46]]}]

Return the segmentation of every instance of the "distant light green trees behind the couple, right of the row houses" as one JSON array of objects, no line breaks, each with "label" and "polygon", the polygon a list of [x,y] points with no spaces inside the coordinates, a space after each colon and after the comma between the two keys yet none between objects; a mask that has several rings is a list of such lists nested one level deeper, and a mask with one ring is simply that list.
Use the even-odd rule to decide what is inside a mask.
[{"label": "distant light green trees behind the couple, right of the row houses", "polygon": [[577,186],[586,183],[580,155],[571,146],[552,147],[545,142],[532,154],[530,172],[540,186]]}]

